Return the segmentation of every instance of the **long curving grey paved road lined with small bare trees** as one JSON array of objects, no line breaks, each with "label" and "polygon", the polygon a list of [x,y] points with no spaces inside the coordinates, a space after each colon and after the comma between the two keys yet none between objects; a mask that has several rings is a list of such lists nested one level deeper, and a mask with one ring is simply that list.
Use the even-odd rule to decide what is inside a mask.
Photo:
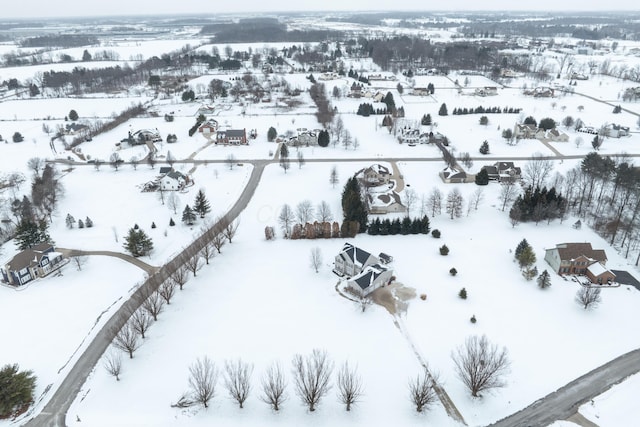
[{"label": "long curving grey paved road lined with small bare trees", "polygon": [[248,205],[251,197],[260,182],[265,163],[254,165],[251,177],[244,191],[231,207],[229,212],[214,224],[210,232],[204,233],[196,239],[191,245],[185,248],[174,259],[158,269],[152,274],[147,281],[138,288],[138,290],[116,311],[113,316],[105,323],[105,325],[96,334],[93,341],[88,345],[86,350],[75,362],[62,384],[51,396],[49,402],[42,409],[42,412],[36,417],[31,418],[25,424],[28,427],[63,427],[65,426],[65,417],[69,407],[80,392],[82,385],[85,383],[91,371],[95,368],[104,351],[109,347],[114,337],[114,331],[120,330],[127,322],[128,315],[140,307],[143,296],[154,292],[171,274],[181,267],[189,258],[189,254],[197,253],[206,243],[211,241],[219,231],[230,222],[234,221],[244,208]]}]

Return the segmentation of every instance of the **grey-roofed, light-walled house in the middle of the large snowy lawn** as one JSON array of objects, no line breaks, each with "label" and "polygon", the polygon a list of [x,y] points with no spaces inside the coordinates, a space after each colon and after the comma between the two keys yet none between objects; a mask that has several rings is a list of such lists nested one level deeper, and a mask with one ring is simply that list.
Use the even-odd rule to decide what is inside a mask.
[{"label": "grey-roofed, light-walled house in the middle of the large snowy lawn", "polygon": [[391,282],[393,270],[388,263],[393,258],[385,255],[387,265],[369,252],[345,243],[336,255],[333,272],[347,277],[347,287],[355,294],[365,297],[379,287]]}]

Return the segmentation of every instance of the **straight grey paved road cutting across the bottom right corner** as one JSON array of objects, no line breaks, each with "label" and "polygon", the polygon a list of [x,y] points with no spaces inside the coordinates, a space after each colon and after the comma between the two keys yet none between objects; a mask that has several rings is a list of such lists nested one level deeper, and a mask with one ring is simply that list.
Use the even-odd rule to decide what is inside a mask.
[{"label": "straight grey paved road cutting across the bottom right corner", "polygon": [[613,359],[489,427],[538,427],[566,420],[581,405],[639,371],[640,349]]}]

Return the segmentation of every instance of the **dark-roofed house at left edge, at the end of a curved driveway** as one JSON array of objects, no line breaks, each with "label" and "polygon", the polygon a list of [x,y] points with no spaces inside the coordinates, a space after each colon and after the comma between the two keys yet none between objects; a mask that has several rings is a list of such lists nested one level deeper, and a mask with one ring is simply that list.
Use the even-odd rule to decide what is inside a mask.
[{"label": "dark-roofed house at left edge, at the end of a curved driveway", "polygon": [[41,243],[18,253],[0,267],[2,281],[11,286],[22,286],[38,277],[44,277],[69,262],[53,245]]}]

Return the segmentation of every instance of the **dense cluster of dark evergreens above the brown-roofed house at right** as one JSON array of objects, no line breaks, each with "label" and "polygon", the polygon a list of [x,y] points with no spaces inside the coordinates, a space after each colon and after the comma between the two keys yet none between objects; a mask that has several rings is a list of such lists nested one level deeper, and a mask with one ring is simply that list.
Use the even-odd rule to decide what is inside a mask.
[{"label": "dense cluster of dark evergreens above the brown-roofed house at right", "polygon": [[529,222],[552,221],[562,218],[567,208],[566,199],[556,191],[555,187],[532,189],[530,186],[524,194],[518,196],[509,213],[513,221]]}]

